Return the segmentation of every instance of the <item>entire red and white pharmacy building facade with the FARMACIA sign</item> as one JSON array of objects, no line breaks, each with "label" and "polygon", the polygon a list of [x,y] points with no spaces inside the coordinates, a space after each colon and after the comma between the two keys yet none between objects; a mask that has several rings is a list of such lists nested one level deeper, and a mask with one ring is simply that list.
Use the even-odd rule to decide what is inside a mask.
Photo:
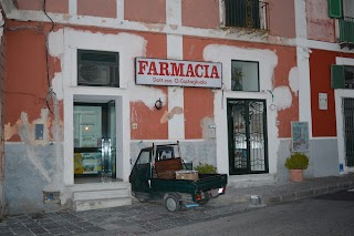
[{"label": "entire red and white pharmacy building facade with the FARMACIA sign", "polygon": [[295,150],[308,177],[351,171],[331,65],[353,54],[326,0],[1,2],[7,213],[129,204],[152,143],[230,184],[288,179]]}]

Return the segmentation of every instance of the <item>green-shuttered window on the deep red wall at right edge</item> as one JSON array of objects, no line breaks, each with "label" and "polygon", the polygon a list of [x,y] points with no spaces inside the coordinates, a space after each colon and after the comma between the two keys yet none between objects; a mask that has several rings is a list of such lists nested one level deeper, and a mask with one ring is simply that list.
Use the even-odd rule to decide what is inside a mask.
[{"label": "green-shuttered window on the deep red wall at right edge", "polygon": [[332,89],[354,90],[354,66],[333,64],[331,66],[331,85]]}]

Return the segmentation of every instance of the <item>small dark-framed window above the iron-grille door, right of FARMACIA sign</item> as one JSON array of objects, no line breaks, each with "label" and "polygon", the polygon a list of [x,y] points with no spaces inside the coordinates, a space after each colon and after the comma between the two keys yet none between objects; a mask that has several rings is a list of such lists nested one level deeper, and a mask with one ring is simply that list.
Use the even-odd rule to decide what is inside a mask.
[{"label": "small dark-framed window above the iron-grille door, right of FARMACIA sign", "polygon": [[258,62],[231,61],[231,90],[259,92]]}]

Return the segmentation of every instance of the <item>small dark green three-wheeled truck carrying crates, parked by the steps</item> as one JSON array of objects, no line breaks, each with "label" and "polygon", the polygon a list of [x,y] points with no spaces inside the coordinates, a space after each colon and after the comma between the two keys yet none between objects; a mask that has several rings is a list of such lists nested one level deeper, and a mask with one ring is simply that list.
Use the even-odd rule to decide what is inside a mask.
[{"label": "small dark green three-wheeled truck carrying crates, parked by the steps", "polygon": [[205,205],[225,194],[226,174],[188,170],[179,143],[154,145],[140,151],[129,176],[132,195],[139,202],[164,201],[169,212]]}]

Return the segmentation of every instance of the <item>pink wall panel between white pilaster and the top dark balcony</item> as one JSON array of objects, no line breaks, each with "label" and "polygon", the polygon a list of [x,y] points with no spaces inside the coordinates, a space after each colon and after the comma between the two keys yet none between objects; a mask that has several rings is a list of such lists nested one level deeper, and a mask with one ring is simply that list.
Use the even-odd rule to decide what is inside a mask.
[{"label": "pink wall panel between white pilaster and the top dark balcony", "polygon": [[181,24],[215,29],[220,24],[219,1],[181,0]]}]

